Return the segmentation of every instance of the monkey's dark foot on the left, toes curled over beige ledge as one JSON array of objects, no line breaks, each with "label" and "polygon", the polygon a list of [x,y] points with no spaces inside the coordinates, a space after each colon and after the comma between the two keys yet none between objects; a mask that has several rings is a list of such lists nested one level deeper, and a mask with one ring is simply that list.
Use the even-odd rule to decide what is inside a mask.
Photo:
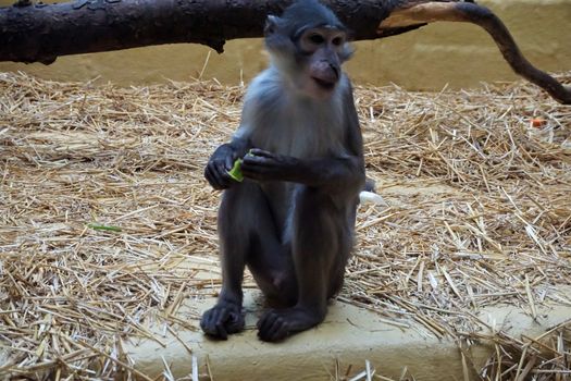
[{"label": "monkey's dark foot on the left, toes curled over beige ledge", "polygon": [[206,334],[222,340],[227,340],[228,334],[244,330],[244,324],[241,307],[227,302],[219,302],[200,319],[200,328]]}]

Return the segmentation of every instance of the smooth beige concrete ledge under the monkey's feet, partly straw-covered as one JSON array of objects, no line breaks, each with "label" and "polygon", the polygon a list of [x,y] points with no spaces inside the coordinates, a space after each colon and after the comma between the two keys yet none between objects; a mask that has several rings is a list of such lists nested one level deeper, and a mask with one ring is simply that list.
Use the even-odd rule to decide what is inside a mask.
[{"label": "smooth beige concrete ledge under the monkey's feet, partly straw-covered", "polygon": [[[405,368],[415,380],[463,379],[461,354],[454,342],[422,334],[424,330],[420,328],[388,324],[374,312],[339,302],[330,306],[326,321],[315,329],[283,343],[260,342],[256,336],[256,321],[262,307],[257,299],[256,292],[247,294],[247,329],[228,341],[209,340],[198,328],[198,321],[189,321],[196,330],[181,329],[177,337],[171,333],[159,335],[163,331],[159,327],[152,329],[165,346],[138,340],[127,343],[125,351],[135,368],[151,378],[161,374],[165,364],[176,379],[189,377],[195,361],[203,380],[210,378],[209,373],[215,381],[330,380],[335,379],[336,369],[339,374],[350,369],[349,374],[355,376],[369,360],[377,374],[394,379],[399,379]],[[189,302],[185,309],[201,312],[213,303],[214,299]],[[184,315],[184,310],[179,312]],[[534,321],[513,306],[494,307],[480,314],[481,319],[496,330],[533,337],[571,319],[571,306],[543,308],[537,315]],[[493,353],[485,343],[470,351],[476,368]],[[471,379],[476,379],[472,376]]]}]

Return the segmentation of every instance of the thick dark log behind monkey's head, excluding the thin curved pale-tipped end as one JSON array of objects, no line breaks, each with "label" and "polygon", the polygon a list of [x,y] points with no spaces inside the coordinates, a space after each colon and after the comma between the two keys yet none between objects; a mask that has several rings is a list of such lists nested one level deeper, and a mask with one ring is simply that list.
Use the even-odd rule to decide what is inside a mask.
[{"label": "thick dark log behind monkey's head, excluding the thin curved pale-tipped end", "polygon": [[[226,40],[261,37],[266,15],[280,14],[290,2],[76,0],[0,8],[0,61],[49,64],[59,56],[181,42],[222,52]],[[373,39],[380,37],[377,26],[399,2],[335,0],[328,4],[356,39]]]}]

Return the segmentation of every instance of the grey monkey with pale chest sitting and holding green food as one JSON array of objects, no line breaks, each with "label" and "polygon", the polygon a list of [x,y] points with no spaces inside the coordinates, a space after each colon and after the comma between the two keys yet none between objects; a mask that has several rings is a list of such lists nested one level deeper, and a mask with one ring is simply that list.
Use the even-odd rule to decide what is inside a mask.
[{"label": "grey monkey with pale chest sitting and holding green food", "polygon": [[[222,189],[218,232],[222,288],[203,332],[240,332],[246,267],[272,306],[257,323],[276,342],[323,321],[342,288],[364,187],[361,130],[342,64],[349,30],[318,0],[296,0],[264,27],[270,65],[248,87],[229,143],[204,176]],[[249,155],[246,155],[248,153]],[[244,181],[227,171],[243,158]]]}]

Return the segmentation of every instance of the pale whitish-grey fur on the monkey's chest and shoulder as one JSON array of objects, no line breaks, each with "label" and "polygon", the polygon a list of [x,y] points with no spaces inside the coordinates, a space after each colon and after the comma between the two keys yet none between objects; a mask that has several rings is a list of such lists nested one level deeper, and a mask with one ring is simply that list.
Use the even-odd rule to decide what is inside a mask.
[{"label": "pale whitish-grey fur on the monkey's chest and shoulder", "polygon": [[345,75],[331,98],[312,99],[293,88],[270,67],[250,85],[236,137],[255,147],[296,158],[319,158],[344,152]]}]

